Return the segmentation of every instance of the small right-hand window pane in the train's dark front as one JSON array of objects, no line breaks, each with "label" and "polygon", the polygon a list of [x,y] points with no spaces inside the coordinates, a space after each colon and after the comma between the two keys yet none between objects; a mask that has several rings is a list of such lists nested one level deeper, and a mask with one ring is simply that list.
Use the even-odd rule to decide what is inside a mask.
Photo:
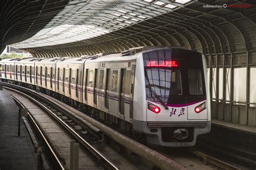
[{"label": "small right-hand window pane in the train's dark front", "polygon": [[188,87],[191,95],[203,95],[200,69],[188,69]]}]

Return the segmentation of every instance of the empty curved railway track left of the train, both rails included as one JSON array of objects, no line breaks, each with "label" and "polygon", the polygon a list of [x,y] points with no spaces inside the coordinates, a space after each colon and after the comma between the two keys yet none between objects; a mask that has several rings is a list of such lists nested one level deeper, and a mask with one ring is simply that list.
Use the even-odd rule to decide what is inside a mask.
[{"label": "empty curved railway track left of the train, both rails included", "polygon": [[[85,130],[71,128],[72,121],[66,121],[69,123],[64,122],[63,119],[59,118],[58,111],[52,112],[42,102],[20,91],[6,88],[12,91],[12,97],[15,98],[15,101],[21,107],[29,109],[30,124],[37,128],[37,131],[40,133],[37,137],[43,141],[44,146],[47,146],[47,157],[49,157],[48,160],[51,161],[53,169],[65,169],[69,167],[70,150],[69,148],[67,149],[67,145],[69,145],[69,141],[74,139],[80,144],[79,157],[86,158],[86,164],[80,161],[79,168],[119,169],[110,159],[106,158],[103,153],[87,141],[95,140],[91,135],[88,135],[86,138],[80,136],[79,132],[84,133]],[[22,98],[24,96],[25,98]],[[36,104],[31,103],[31,101]],[[56,121],[58,124],[56,124]]]}]

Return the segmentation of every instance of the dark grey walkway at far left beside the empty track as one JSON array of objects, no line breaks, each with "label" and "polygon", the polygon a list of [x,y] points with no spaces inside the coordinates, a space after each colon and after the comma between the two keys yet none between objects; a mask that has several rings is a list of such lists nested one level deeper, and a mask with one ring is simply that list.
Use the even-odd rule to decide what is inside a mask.
[{"label": "dark grey walkway at far left beside the empty track", "polygon": [[18,107],[8,91],[0,90],[0,169],[37,169],[36,154],[21,121],[18,137]]}]

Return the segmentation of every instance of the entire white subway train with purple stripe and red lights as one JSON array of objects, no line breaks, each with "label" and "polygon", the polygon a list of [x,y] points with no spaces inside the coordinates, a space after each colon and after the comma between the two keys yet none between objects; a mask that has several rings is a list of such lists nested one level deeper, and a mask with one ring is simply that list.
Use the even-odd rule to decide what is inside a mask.
[{"label": "entire white subway train with purple stripe and red lights", "polygon": [[206,60],[182,47],[0,61],[4,82],[43,91],[148,144],[186,147],[211,130]]}]

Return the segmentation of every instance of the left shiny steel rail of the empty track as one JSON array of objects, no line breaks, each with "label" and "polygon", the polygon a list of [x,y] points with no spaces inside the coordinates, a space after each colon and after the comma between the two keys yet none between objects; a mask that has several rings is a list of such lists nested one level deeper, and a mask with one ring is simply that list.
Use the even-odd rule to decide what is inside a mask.
[{"label": "left shiny steel rail of the empty track", "polygon": [[[5,88],[8,88],[8,87],[5,87]],[[10,88],[8,88],[8,89],[10,89]],[[12,89],[12,90],[14,90],[14,89]],[[14,96],[11,96],[11,97],[12,97],[12,98],[15,100],[15,102],[17,102],[22,108],[25,108],[24,105],[23,105],[21,102],[19,102],[19,101],[17,100],[17,98],[15,98]],[[55,161],[56,161],[56,163],[57,163],[57,164],[55,164],[55,165],[57,165],[55,168],[56,168],[56,169],[63,169],[63,170],[64,170],[65,168],[64,168],[64,166],[62,165],[62,161],[59,160],[59,158],[58,158],[58,156],[57,156],[57,153],[55,153],[55,150],[53,150],[51,144],[49,143],[48,139],[45,137],[45,135],[44,135],[44,133],[42,132],[42,130],[39,128],[39,126],[38,126],[38,124],[37,124],[35,118],[33,118],[33,116],[31,115],[30,111],[28,111],[28,116],[29,116],[29,118],[30,118],[30,120],[31,120],[31,123],[33,123],[33,125],[36,127],[36,130],[39,132],[39,134],[40,134],[41,137],[43,138],[44,143],[46,144],[46,146],[47,146],[48,149],[50,150],[50,153],[52,154],[53,158],[55,158]],[[52,160],[51,160],[51,161],[52,161]]]}]

